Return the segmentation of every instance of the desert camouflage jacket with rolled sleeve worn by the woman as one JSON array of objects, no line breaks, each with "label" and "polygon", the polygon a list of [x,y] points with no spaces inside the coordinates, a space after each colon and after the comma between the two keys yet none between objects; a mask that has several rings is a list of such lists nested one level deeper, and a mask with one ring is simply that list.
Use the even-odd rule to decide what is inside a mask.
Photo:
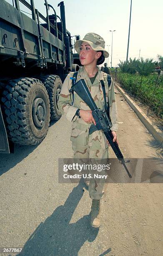
[{"label": "desert camouflage jacket with rolled sleeve worn by the woman", "polygon": [[[65,78],[65,81],[63,83],[62,89],[60,91],[60,97],[58,100],[58,108],[62,114],[66,114],[66,118],[72,122],[72,133],[71,133],[71,141],[74,141],[76,143],[83,141],[83,145],[85,146],[88,143],[88,133],[89,128],[91,124],[85,123],[85,121],[82,118],[78,118],[75,116],[76,110],[78,108],[83,110],[90,110],[88,105],[83,102],[83,100],[74,92],[74,102],[73,105],[73,97],[70,95],[69,90],[72,86],[72,80],[70,77],[73,77],[73,72],[69,73],[68,76]],[[105,105],[104,96],[103,96],[103,90],[100,83],[100,80],[104,80],[105,84],[105,92],[106,92],[106,101],[109,100],[110,104],[110,118],[112,121],[112,131],[118,130],[117,125],[117,107],[116,107],[116,101],[115,101],[115,93],[114,93],[114,83],[113,80],[110,84],[110,87],[108,89],[108,82],[107,82],[107,74],[104,72],[101,72],[98,68],[98,74],[95,78],[95,81],[93,84],[90,81],[90,78],[88,76],[88,73],[86,72],[84,67],[81,67],[78,71],[78,76],[76,82],[78,80],[84,79],[85,83],[88,86],[88,89],[90,91],[91,96],[93,97],[93,100],[95,101],[95,104],[98,108],[103,109]],[[75,117],[74,117],[75,116]],[[80,135],[80,136],[79,136]],[[77,139],[78,138],[78,139]],[[107,148],[108,144],[106,143],[105,136],[102,131],[95,131],[93,133],[92,139],[94,141],[98,141],[99,146],[102,146],[102,148]],[[81,145],[80,145],[81,146]],[[96,143],[95,148],[97,148],[98,145]]]}]

